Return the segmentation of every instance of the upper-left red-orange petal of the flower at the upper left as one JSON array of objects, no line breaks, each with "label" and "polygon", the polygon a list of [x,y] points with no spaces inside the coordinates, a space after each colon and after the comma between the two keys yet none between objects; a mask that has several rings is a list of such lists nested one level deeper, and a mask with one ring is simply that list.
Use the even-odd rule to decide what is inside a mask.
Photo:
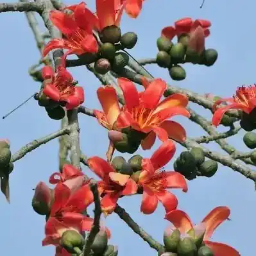
[{"label": "upper-left red-orange petal of the flower at the upper left", "polygon": [[78,29],[78,26],[74,19],[60,11],[51,11],[50,19],[53,24],[64,34],[71,34]]}]

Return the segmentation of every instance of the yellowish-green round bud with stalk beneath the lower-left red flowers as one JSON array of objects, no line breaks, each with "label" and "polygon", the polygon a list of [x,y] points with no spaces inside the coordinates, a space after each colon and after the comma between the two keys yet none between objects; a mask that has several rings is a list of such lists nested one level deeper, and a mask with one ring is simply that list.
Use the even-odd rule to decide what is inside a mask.
[{"label": "yellowish-green round bud with stalk beneath the lower-left red flowers", "polygon": [[85,243],[83,236],[76,230],[67,230],[62,234],[60,246],[65,248],[69,253],[81,253],[83,244]]}]

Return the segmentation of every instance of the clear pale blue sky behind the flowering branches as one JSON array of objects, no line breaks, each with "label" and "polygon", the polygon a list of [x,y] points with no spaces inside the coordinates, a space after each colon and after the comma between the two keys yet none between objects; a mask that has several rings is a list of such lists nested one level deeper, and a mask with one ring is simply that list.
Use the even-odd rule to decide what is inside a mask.
[{"label": "clear pale blue sky behind the flowering branches", "polygon": [[[69,3],[78,3],[75,1]],[[94,6],[93,0],[88,0]],[[228,97],[234,94],[237,86],[255,83],[255,1],[212,1],[206,0],[200,9],[201,0],[170,1],[147,0],[138,19],[123,16],[121,30],[135,31],[139,35],[137,46],[130,51],[135,58],[155,57],[156,40],[164,26],[170,26],[178,19],[209,19],[212,22],[211,35],[206,47],[218,50],[219,58],[213,67],[188,65],[184,67],[187,78],[184,81],[172,81],[166,69],[157,65],[146,68],[156,77],[168,83],[194,90],[200,94],[213,92]],[[39,53],[24,13],[1,13],[1,94],[0,115],[16,107],[24,99],[38,91],[40,83],[28,75],[28,68],[38,62]],[[75,80],[85,89],[85,106],[100,108],[96,98],[96,89],[100,83],[85,69],[71,69]],[[194,107],[194,104],[191,104]],[[210,119],[209,110],[195,107],[200,114]],[[196,124],[184,117],[175,118],[182,123],[189,137],[205,134]],[[60,121],[47,117],[44,108],[31,99],[24,107],[6,119],[0,119],[0,136],[11,141],[12,152],[19,150],[33,139],[55,132]],[[105,157],[108,146],[107,130],[99,126],[96,119],[80,114],[81,149],[86,155]],[[220,127],[219,131],[227,128]],[[242,141],[244,132],[240,132],[228,141],[240,150],[248,151]],[[157,149],[156,144],[153,150]],[[218,145],[207,145],[221,151]],[[149,157],[153,150],[137,153]],[[175,158],[182,148],[177,146]],[[127,155],[128,158],[128,155]],[[54,246],[41,246],[44,238],[44,216],[39,216],[31,208],[33,190],[39,181],[47,183],[51,173],[58,171],[58,139],[40,146],[14,164],[10,176],[10,198],[8,205],[0,194],[0,246],[2,255],[43,256],[54,255]],[[166,170],[173,169],[173,161]],[[87,175],[89,169],[84,168]],[[219,205],[231,209],[232,221],[226,221],[216,230],[212,241],[218,241],[239,250],[241,255],[250,256],[255,252],[255,229],[253,221],[256,214],[254,184],[239,173],[219,164],[219,171],[212,178],[197,178],[188,182],[189,192],[173,190],[178,196],[179,208],[185,210],[195,223],[199,223],[210,210]],[[119,204],[129,212],[149,234],[162,243],[164,229],[169,225],[164,220],[164,208],[158,205],[155,213],[144,216],[140,212],[141,195],[122,198]],[[119,246],[119,255],[156,255],[148,244],[112,214],[107,218],[107,226],[112,231],[110,243]],[[228,255],[227,255],[228,256]]]}]

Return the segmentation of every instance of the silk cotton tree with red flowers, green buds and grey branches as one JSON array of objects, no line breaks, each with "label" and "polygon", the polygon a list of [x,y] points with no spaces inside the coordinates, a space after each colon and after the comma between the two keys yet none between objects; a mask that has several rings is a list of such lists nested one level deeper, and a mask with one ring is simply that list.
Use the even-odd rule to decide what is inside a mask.
[{"label": "silk cotton tree with red flowers, green buds and grey branches", "polygon": [[[96,0],[95,10],[84,2],[66,5],[55,0],[0,4],[0,12],[25,12],[33,24],[36,40],[42,38],[42,44],[37,41],[40,65],[30,69],[30,75],[41,85],[33,98],[49,118],[62,120],[60,130],[26,144],[15,153],[11,151],[11,138],[0,141],[1,191],[10,203],[13,163],[60,137],[60,147],[69,144],[59,159],[60,168],[48,181],[38,180],[31,203],[37,214],[45,216],[42,246],[55,246],[56,256],[124,255],[122,248],[118,250],[110,242],[112,230],[106,222],[114,213],[115,218],[123,219],[156,251],[155,255],[239,256],[235,244],[211,241],[214,230],[230,216],[228,206],[216,205],[201,223],[194,225],[180,209],[179,196],[173,194],[173,189],[181,189],[189,196],[192,180],[214,176],[219,164],[256,182],[250,169],[256,165],[256,151],[241,153],[227,149],[231,147],[228,142],[219,142],[245,130],[249,133],[244,135],[244,143],[250,149],[256,148],[256,133],[252,132],[256,128],[255,85],[239,87],[231,98],[200,96],[176,87],[178,81],[186,78],[185,64],[211,67],[218,60],[216,49],[206,48],[207,38],[214,37],[214,33],[210,35],[214,24],[207,19],[180,17],[171,26],[163,24],[160,37],[153,39],[157,57],[136,60],[128,50],[136,46],[138,35],[121,32],[122,17],[126,13],[129,19],[137,19],[141,12],[149,12],[147,2]],[[42,37],[35,17],[29,15],[31,12],[42,17],[47,37]],[[76,58],[70,59],[70,55]],[[168,69],[172,85],[153,77],[143,67],[146,64]],[[95,94],[102,109],[87,108],[87,86],[83,81],[78,85],[69,71],[69,67],[83,65],[99,80]],[[211,110],[212,121],[192,110],[190,101]],[[79,136],[83,127],[79,126],[78,112],[95,118],[106,129],[108,144],[99,145],[106,147],[105,158],[81,152]],[[189,126],[174,121],[177,115],[199,124],[209,135],[188,137]],[[215,127],[219,125],[230,130],[217,132]],[[218,142],[228,155],[202,145],[211,141]],[[180,155],[176,152],[177,144],[185,148]],[[146,152],[153,146],[157,148],[151,157],[137,154],[139,148]],[[130,154],[128,159],[123,153]],[[173,168],[167,171],[170,161]],[[86,168],[82,169],[81,163]],[[92,178],[92,174],[97,178]],[[166,219],[171,226],[163,230],[163,243],[153,239],[119,206],[121,198],[135,195],[141,197],[141,208],[135,209],[141,214],[155,214],[157,207],[164,207],[165,215],[158,219]],[[90,205],[94,205],[93,216],[87,212]]]}]

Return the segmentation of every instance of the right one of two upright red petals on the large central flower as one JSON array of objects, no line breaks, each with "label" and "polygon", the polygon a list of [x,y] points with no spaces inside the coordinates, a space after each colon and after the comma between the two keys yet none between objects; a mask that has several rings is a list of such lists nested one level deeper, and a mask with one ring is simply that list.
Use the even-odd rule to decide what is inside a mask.
[{"label": "right one of two upright red petals on the large central flower", "polygon": [[166,82],[157,78],[149,83],[146,90],[141,94],[141,104],[145,108],[155,108],[166,90]]}]

